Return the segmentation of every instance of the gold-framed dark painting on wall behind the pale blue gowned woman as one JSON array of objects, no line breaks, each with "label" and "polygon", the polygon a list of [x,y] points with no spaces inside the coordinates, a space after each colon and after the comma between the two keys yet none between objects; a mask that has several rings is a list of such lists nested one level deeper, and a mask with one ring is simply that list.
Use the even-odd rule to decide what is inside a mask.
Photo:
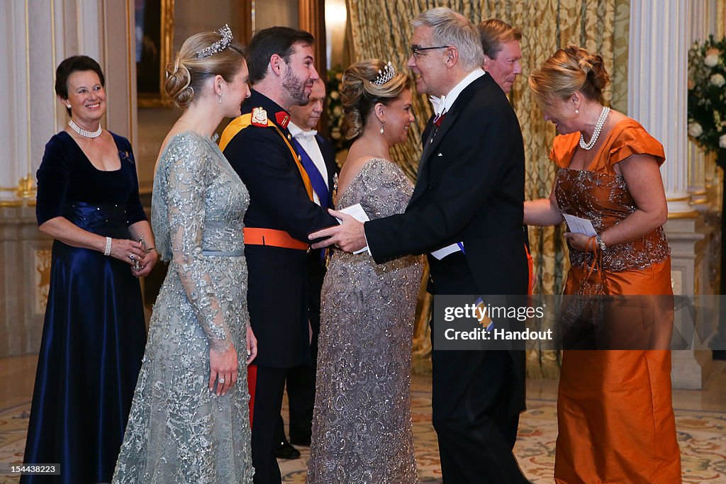
[{"label": "gold-framed dark painting on wall behind the pale blue gowned woman", "polygon": [[135,0],[135,7],[139,107],[171,107],[164,81],[174,48],[174,0]]}]

